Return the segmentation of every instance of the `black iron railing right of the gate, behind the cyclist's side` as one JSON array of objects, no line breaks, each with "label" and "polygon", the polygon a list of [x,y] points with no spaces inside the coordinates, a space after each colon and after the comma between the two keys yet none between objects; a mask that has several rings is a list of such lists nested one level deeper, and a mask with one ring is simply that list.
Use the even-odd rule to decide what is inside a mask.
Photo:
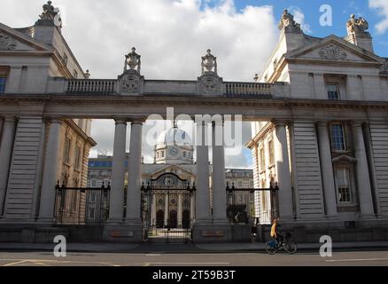
[{"label": "black iron railing right of the gate, behind the cyclist's side", "polygon": [[[279,216],[279,186],[269,188],[236,188],[227,185],[227,215],[232,224],[259,224],[271,223]],[[260,212],[260,194],[269,194],[268,220],[263,218]],[[259,210],[259,212],[258,212]]]}]

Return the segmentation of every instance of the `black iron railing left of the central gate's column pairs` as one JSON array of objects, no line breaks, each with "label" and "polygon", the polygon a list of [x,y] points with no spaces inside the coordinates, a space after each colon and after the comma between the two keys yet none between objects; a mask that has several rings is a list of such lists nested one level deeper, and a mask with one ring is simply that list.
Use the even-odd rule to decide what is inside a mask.
[{"label": "black iron railing left of the central gate's column pairs", "polygon": [[55,219],[58,225],[100,225],[109,217],[111,185],[100,188],[55,188]]}]

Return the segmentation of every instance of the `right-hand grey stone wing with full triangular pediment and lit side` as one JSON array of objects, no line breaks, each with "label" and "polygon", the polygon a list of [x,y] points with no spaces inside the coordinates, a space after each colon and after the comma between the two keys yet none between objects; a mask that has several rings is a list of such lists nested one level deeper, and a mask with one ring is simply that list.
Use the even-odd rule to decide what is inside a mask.
[{"label": "right-hand grey stone wing with full triangular pediment and lit side", "polygon": [[[291,190],[281,219],[305,231],[321,226],[337,230],[338,237],[362,226],[388,224],[388,121],[383,110],[387,59],[374,53],[367,29],[366,20],[352,15],[345,37],[307,36],[284,11],[279,42],[255,78],[260,83],[287,83],[285,99],[322,103],[314,111],[294,110],[285,125],[277,120],[252,122],[247,144],[255,185],[265,187],[286,175],[280,186]],[[342,108],[342,114],[327,104]],[[287,141],[286,148],[279,146],[279,139]],[[268,195],[260,193],[257,199],[261,222],[271,222]],[[383,231],[376,229],[380,237]]]}]

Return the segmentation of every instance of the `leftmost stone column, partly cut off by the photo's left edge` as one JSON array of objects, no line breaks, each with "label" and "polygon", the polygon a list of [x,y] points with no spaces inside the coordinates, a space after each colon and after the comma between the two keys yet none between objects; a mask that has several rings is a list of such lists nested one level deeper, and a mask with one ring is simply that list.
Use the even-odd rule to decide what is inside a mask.
[{"label": "leftmost stone column, partly cut off by the photo's left edge", "polygon": [[13,139],[15,138],[16,119],[15,117],[5,117],[3,131],[0,132],[0,217],[3,216],[4,202],[7,192],[8,177],[12,159]]}]

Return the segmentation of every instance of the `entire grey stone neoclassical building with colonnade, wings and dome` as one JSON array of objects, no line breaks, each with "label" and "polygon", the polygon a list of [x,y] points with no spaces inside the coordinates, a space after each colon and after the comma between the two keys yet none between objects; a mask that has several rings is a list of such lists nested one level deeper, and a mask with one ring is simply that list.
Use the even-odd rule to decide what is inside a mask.
[{"label": "entire grey stone neoclassical building with colonnade, wings and dome", "polygon": [[[238,216],[233,222],[236,211],[229,214],[240,187],[230,189],[225,174],[230,118],[252,122],[247,146],[255,188],[244,193],[254,195],[254,206],[241,201],[250,204],[245,211],[254,208],[263,237],[280,217],[298,241],[316,242],[323,234],[334,241],[387,239],[388,61],[374,53],[366,20],[352,16],[345,37],[317,38],[284,11],[279,43],[261,75],[255,82],[225,82],[222,62],[210,50],[193,80],[145,78],[136,49],[123,58],[117,78],[89,79],[57,16],[49,3],[33,27],[0,24],[0,241],[52,242],[57,234],[69,241],[146,241],[158,233],[150,222],[166,208],[163,198],[153,197],[166,189],[186,193],[183,204],[194,219],[184,225],[185,241],[251,240],[249,225]],[[143,184],[144,122],[154,114],[195,121],[196,143],[169,146],[168,133],[185,138],[167,130],[155,148],[152,167],[159,171]],[[98,192],[104,206],[97,223],[81,216],[66,225],[58,221],[58,204],[86,181],[92,119],[115,121],[111,184]],[[72,201],[88,198],[86,189],[75,190],[81,195]],[[159,200],[157,209],[152,204]],[[59,217],[80,212],[72,201]],[[175,220],[163,217],[167,225]]]}]

